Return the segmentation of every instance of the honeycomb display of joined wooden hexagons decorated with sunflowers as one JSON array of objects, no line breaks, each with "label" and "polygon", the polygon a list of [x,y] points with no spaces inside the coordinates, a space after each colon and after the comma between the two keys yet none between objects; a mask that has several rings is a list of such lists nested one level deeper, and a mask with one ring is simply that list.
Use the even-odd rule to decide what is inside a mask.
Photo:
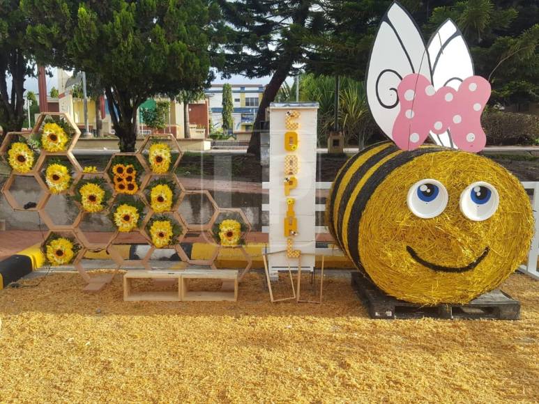
[{"label": "honeycomb display of joined wooden hexagons decorated with sunflowers", "polygon": [[[64,132],[70,133],[70,139],[63,147],[63,150],[47,151],[43,148],[36,150],[35,139],[42,137],[40,132],[43,131],[46,123],[63,125],[63,127],[66,128],[64,129]],[[113,277],[112,275],[91,277],[86,270],[84,270],[82,259],[89,251],[107,251],[109,257],[112,259],[112,261],[114,261],[114,267],[118,269],[123,267],[141,267],[145,270],[151,270],[149,261],[151,255],[155,249],[158,249],[158,247],[153,244],[147,225],[152,221],[152,219],[163,217],[168,219],[171,224],[176,224],[177,226],[181,227],[181,233],[177,235],[176,242],[174,242],[174,244],[162,247],[175,249],[181,261],[197,265],[208,265],[212,269],[216,269],[215,260],[218,259],[218,256],[223,249],[239,248],[248,262],[246,267],[241,271],[241,276],[239,279],[241,280],[245,273],[250,270],[252,259],[243,245],[225,247],[220,243],[215,242],[215,238],[213,238],[211,235],[213,226],[222,215],[234,213],[235,215],[238,215],[241,222],[245,224],[245,232],[242,234],[242,240],[244,240],[246,233],[248,233],[251,228],[247,217],[245,217],[245,214],[241,209],[220,209],[218,204],[215,202],[215,199],[213,199],[213,196],[211,196],[210,192],[208,192],[206,189],[185,190],[175,173],[176,168],[181,162],[183,153],[172,134],[151,134],[146,137],[142,143],[142,146],[135,153],[114,153],[107,163],[104,171],[93,172],[84,171],[73,155],[73,149],[75,148],[75,144],[77,143],[79,137],[80,130],[70,116],[63,113],[47,112],[38,116],[36,125],[33,127],[30,133],[10,132],[6,134],[6,137],[3,139],[0,146],[0,157],[5,162],[8,162],[8,150],[10,149],[13,141],[18,141],[20,139],[29,145],[32,150],[37,152],[33,153],[35,161],[28,172],[22,173],[12,169],[8,179],[2,187],[2,193],[5,196],[6,201],[14,210],[37,211],[43,223],[47,226],[47,228],[49,228],[49,233],[47,236],[54,232],[68,233],[70,235],[70,239],[72,239],[73,242],[80,247],[79,251],[77,251],[70,263],[73,264],[77,272],[79,272],[81,275],[82,279],[84,279],[84,281],[87,283],[84,290],[92,293],[99,292],[107,285],[107,283],[112,281]],[[163,144],[167,145],[167,148],[160,146]],[[31,145],[34,145],[34,147]],[[44,180],[44,169],[45,166],[47,166],[47,162],[56,160],[61,160],[61,163],[65,163],[64,165],[70,168],[70,175],[72,179],[67,189],[62,190],[61,192],[53,193]],[[127,175],[121,178],[116,176],[112,172],[112,169],[114,168],[114,162],[117,161],[132,162],[132,168],[137,167],[139,169],[135,170],[137,171],[136,178],[130,178],[129,181]],[[124,164],[124,166],[129,165],[130,164]],[[10,192],[10,188],[13,187],[13,184],[17,178],[33,178],[33,180],[35,180],[38,189],[40,189],[39,196],[37,197],[37,200],[34,201],[35,205],[22,205],[20,201],[17,201],[15,196],[13,196],[13,193]],[[77,201],[77,198],[75,197],[77,196],[77,186],[87,185],[88,182],[99,183],[100,187],[105,189],[107,191],[106,194],[109,195],[109,199],[100,205],[101,210],[99,211],[90,212],[84,210],[82,203]],[[128,191],[131,192],[131,194],[127,194],[121,189],[121,187],[119,187],[119,184],[124,182],[126,185],[132,184],[132,189]],[[165,182],[172,184],[174,190],[176,191],[176,194],[173,195],[175,199],[174,203],[172,203],[167,210],[154,212],[148,189],[152,184],[163,184]],[[136,184],[136,187],[134,184]],[[82,222],[89,218],[107,219],[109,222],[112,221],[114,224],[114,221],[110,218],[112,216],[112,210],[116,201],[123,200],[123,194],[128,195],[130,200],[132,199],[134,201],[139,201],[139,205],[144,206],[144,219],[140,220],[139,223],[137,222],[136,228],[132,228],[131,231],[126,233],[122,233],[118,230],[118,228],[115,228],[113,232],[103,232],[103,235],[96,238],[91,231],[85,231],[80,227]],[[46,211],[45,207],[47,205],[47,201],[49,201],[53,195],[61,195],[65,196],[68,200],[75,200],[73,203],[77,207],[78,212],[76,212],[74,219],[70,223],[58,224],[55,222],[56,218],[52,217],[52,215]],[[201,200],[205,199],[207,203],[209,203],[209,206],[211,206],[213,212],[205,223],[190,223],[188,218],[182,215],[180,210],[181,204],[186,198],[191,196],[200,198]],[[215,245],[215,254],[213,254],[210,259],[205,261],[191,260],[181,247],[181,242],[188,233],[191,235],[192,233],[206,235],[204,239]],[[146,251],[146,254],[144,254],[144,257],[140,258],[139,260],[126,259],[124,258],[123,254],[121,254],[119,246],[121,244],[130,244],[132,240],[135,240],[133,237],[135,234],[138,235],[138,239],[143,244],[147,244],[149,246],[149,249]],[[47,238],[45,238],[45,240],[47,240]],[[45,244],[45,240],[43,244]],[[139,242],[136,244],[139,244]],[[43,247],[44,245],[42,245],[42,248]]]}]

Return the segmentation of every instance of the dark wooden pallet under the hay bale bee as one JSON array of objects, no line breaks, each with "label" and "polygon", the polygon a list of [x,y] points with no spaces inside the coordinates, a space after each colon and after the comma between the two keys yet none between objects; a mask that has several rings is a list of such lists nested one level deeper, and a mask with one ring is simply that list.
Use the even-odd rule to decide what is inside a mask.
[{"label": "dark wooden pallet under the hay bale bee", "polygon": [[437,306],[421,306],[416,303],[397,300],[386,295],[374,286],[360,272],[351,273],[352,288],[363,301],[370,318],[395,320],[399,318],[466,318],[518,320],[520,318],[520,302],[496,289],[480,295],[469,304],[439,304]]}]

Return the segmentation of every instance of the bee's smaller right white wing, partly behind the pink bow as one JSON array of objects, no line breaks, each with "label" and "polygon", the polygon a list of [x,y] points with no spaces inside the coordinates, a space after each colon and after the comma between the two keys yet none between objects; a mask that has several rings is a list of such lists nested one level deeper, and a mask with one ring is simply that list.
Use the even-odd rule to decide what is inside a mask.
[{"label": "bee's smaller right white wing, partly behind the pink bow", "polygon": [[[450,86],[457,90],[464,79],[473,76],[470,51],[460,29],[452,20],[446,20],[436,30],[430,38],[427,51],[434,89]],[[439,135],[430,132],[430,137],[436,144],[457,148],[448,132]]]}]

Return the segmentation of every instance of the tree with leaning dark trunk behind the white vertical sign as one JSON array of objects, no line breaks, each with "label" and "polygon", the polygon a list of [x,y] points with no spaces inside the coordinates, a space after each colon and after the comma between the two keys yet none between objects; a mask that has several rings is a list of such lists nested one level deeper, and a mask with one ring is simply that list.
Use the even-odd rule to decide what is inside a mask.
[{"label": "tree with leaning dark trunk behind the white vertical sign", "polygon": [[248,148],[248,153],[259,156],[256,130],[265,119],[266,107],[287,76],[298,73],[309,36],[324,30],[324,11],[315,7],[314,0],[218,1],[230,27],[222,71],[249,78],[271,76]]}]

